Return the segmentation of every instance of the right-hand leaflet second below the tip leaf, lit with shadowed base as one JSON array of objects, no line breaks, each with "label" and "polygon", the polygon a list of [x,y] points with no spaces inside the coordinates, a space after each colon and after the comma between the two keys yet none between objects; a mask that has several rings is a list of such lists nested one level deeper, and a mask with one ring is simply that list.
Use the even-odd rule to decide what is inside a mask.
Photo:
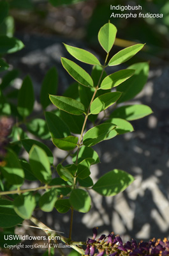
[{"label": "right-hand leaflet second below the tip leaf, lit with shadowed base", "polygon": [[111,74],[110,76],[105,77],[101,83],[100,88],[102,90],[107,90],[118,86],[122,82],[126,81],[129,77],[133,76],[135,70],[132,69],[123,69]]}]

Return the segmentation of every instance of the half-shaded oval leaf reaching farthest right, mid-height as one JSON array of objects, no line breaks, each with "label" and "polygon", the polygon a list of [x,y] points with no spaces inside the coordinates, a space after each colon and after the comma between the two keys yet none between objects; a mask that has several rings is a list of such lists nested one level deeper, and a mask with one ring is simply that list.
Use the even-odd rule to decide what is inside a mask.
[{"label": "half-shaded oval leaf reaching farthest right, mid-height", "polygon": [[143,118],[152,114],[152,109],[146,105],[128,105],[115,109],[110,115],[111,118],[123,118],[128,121]]}]

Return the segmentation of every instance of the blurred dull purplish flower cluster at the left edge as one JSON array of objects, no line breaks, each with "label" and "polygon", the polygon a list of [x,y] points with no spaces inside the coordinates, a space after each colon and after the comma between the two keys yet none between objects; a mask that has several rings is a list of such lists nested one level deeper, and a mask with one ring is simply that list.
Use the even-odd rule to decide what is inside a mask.
[{"label": "blurred dull purplish flower cluster at the left edge", "polygon": [[0,164],[3,165],[3,157],[6,154],[6,145],[8,144],[8,135],[10,134],[12,118],[2,116],[0,118]]}]

